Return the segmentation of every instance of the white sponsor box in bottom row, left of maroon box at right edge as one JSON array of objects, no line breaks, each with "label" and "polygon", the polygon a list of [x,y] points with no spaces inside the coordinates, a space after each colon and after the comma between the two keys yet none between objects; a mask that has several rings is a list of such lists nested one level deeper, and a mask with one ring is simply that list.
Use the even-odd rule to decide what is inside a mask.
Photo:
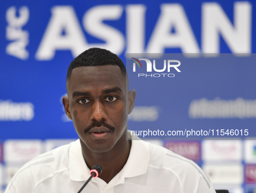
[{"label": "white sponsor box in bottom row, left of maroon box at right edge", "polygon": [[242,184],[243,165],[203,165],[203,170],[213,184]]}]

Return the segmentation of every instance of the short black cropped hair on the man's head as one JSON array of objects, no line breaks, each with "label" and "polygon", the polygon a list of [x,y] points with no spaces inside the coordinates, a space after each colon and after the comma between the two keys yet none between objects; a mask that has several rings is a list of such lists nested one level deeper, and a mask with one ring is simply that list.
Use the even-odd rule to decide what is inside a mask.
[{"label": "short black cropped hair on the man's head", "polygon": [[68,67],[67,80],[71,77],[74,68],[82,66],[119,66],[122,74],[126,76],[123,61],[111,51],[102,48],[90,48],[76,57]]}]

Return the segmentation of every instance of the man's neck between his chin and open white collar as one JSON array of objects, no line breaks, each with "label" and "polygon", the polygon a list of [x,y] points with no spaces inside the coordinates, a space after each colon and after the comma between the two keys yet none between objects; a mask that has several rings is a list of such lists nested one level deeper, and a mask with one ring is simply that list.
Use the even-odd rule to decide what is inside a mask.
[{"label": "man's neck between his chin and open white collar", "polygon": [[103,170],[99,177],[106,183],[122,170],[130,154],[131,141],[126,140],[126,132],[110,151],[104,153],[93,152],[81,140],[80,142],[87,166],[91,169],[94,165],[100,164]]}]

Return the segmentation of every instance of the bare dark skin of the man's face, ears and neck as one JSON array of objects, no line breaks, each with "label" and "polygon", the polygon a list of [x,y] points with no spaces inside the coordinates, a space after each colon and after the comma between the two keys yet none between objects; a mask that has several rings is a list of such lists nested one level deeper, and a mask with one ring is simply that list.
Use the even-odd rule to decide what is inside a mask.
[{"label": "bare dark skin of the man's face, ears and neck", "polygon": [[106,183],[115,177],[129,157],[127,116],[133,110],[135,90],[126,96],[126,76],[118,66],[74,68],[67,81],[68,97],[62,102],[78,133],[87,166],[103,168]]}]

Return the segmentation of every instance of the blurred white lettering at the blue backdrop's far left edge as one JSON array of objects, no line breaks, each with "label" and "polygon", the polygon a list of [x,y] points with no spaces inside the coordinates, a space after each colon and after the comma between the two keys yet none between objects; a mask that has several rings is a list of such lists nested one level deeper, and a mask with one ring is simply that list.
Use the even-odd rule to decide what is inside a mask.
[{"label": "blurred white lettering at the blue backdrop's far left edge", "polygon": [[0,121],[31,121],[34,116],[32,103],[15,103],[11,100],[0,100]]}]

